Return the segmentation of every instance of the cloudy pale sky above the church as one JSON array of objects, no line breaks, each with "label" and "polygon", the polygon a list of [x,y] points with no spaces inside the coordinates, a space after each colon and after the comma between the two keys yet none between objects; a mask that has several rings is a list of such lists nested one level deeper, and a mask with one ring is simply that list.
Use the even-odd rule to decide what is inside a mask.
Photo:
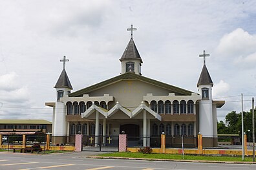
[{"label": "cloudy pale sky above the church", "polygon": [[198,92],[206,50],[218,120],[256,97],[256,1],[0,0],[0,22],[1,119],[52,121],[63,56],[72,92],[120,75],[131,24],[148,78]]}]

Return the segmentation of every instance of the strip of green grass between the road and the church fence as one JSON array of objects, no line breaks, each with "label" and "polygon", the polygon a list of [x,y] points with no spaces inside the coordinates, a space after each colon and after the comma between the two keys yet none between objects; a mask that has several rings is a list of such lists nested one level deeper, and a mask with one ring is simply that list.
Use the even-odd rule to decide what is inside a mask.
[{"label": "strip of green grass between the road and the church fence", "polygon": [[[149,159],[169,159],[169,160],[183,160],[182,154],[161,154],[161,153],[105,153],[98,156],[115,156],[125,158],[149,158]],[[210,161],[222,161],[222,162],[242,162],[242,156],[202,156],[202,155],[184,155],[184,160],[210,160]],[[251,157],[245,157],[244,162],[252,162]]]}]

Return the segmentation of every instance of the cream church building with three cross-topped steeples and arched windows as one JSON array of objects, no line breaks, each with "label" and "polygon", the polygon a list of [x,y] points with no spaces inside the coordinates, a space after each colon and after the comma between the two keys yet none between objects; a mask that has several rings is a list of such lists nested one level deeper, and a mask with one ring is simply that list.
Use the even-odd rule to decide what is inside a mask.
[{"label": "cream church building with three cross-topped steeples and arched windows", "polygon": [[213,81],[205,63],[209,54],[200,55],[204,65],[198,72],[198,93],[192,92],[142,76],[136,28],[127,30],[131,39],[120,58],[121,74],[114,78],[72,92],[65,69],[69,59],[61,59],[56,101],[45,103],[53,108],[52,143],[74,143],[75,134],[83,134],[85,145],[107,145],[127,134],[131,147],[158,147],[165,134],[166,147],[179,147],[181,136],[185,145],[196,147],[200,133],[204,147],[217,146],[217,108],[225,101],[212,99]]}]

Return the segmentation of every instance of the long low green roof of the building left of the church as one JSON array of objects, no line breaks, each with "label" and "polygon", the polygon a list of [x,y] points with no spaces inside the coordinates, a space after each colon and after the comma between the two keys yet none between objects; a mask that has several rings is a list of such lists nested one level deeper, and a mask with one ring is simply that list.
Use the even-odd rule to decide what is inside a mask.
[{"label": "long low green roof of the building left of the church", "polygon": [[6,119],[6,120],[0,120],[0,124],[52,124],[52,122],[49,122],[47,120],[17,120],[17,119]]}]

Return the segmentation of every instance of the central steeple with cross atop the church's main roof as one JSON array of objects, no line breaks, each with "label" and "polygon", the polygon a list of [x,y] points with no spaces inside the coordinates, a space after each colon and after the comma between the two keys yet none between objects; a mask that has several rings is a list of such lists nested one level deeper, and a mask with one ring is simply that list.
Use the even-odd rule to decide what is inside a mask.
[{"label": "central steeple with cross atop the church's main roof", "polygon": [[133,28],[133,25],[131,25],[131,28],[127,28],[127,30],[131,31],[131,39],[123,52],[122,58],[120,58],[122,65],[121,74],[124,74],[125,72],[134,72],[135,74],[141,75],[143,62],[133,41],[133,30],[137,29]]}]

